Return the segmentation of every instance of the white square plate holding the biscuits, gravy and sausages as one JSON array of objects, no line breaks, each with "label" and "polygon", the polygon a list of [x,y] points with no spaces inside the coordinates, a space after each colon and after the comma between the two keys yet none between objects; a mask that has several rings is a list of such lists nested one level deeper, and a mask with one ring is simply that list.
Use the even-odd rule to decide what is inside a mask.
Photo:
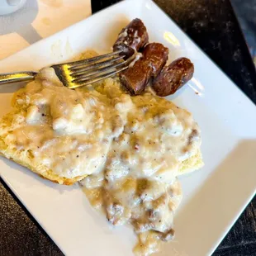
[{"label": "white square plate holding the biscuits, gravy and sausages", "polygon": [[[202,130],[205,167],[182,177],[183,203],[174,220],[176,238],[164,254],[211,254],[254,196],[256,108],[201,50],[149,0],[127,0],[0,61],[0,72],[38,70],[93,48],[110,51],[117,33],[140,17],[150,41],[170,49],[170,60],[187,56],[195,64],[192,82],[174,102],[192,111]],[[194,90],[198,91],[197,94]],[[13,85],[0,88],[0,114],[9,111]],[[132,255],[135,235],[111,229],[78,186],[50,183],[7,159],[0,173],[21,202],[66,255]]]}]

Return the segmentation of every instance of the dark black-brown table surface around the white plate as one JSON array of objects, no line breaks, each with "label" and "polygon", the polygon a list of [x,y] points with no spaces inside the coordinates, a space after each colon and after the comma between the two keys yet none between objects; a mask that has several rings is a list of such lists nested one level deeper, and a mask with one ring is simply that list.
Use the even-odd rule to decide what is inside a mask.
[{"label": "dark black-brown table surface around the white plate", "polygon": [[[92,12],[116,2],[119,0],[93,0]],[[155,2],[256,103],[254,64],[229,0]],[[256,1],[253,7],[256,7]],[[63,255],[9,188],[0,181],[0,256]],[[256,197],[214,255],[256,255]]]}]

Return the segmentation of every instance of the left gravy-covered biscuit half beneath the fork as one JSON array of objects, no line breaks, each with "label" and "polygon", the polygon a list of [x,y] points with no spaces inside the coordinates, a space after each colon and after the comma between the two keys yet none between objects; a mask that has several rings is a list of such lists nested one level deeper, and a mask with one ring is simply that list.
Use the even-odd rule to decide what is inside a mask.
[{"label": "left gravy-covered biscuit half beneath the fork", "polygon": [[117,129],[107,102],[65,88],[51,68],[41,70],[13,102],[0,125],[1,154],[66,185],[103,168]]}]

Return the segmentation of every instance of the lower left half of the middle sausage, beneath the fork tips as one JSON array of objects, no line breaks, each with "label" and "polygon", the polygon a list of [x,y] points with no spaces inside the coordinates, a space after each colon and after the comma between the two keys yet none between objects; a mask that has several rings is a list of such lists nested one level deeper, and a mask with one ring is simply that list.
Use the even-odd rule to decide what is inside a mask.
[{"label": "lower left half of the middle sausage, beneath the fork tips", "polygon": [[127,88],[131,95],[138,95],[145,90],[151,77],[152,67],[148,61],[141,58],[135,64],[120,73],[121,83]]}]

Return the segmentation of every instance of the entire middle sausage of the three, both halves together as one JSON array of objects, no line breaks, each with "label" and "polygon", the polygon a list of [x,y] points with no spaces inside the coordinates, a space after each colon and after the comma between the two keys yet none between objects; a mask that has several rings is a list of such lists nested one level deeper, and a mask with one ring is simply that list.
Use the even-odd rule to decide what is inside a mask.
[{"label": "entire middle sausage of the three, both halves together", "polygon": [[120,73],[121,83],[132,95],[145,91],[149,79],[156,76],[168,59],[168,48],[159,43],[145,46],[142,56],[135,64]]}]

